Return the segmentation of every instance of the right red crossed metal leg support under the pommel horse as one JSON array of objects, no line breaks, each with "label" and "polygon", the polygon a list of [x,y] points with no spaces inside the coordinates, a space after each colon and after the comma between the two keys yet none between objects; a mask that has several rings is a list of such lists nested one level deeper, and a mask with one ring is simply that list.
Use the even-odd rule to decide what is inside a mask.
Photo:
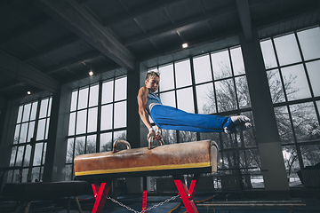
[{"label": "right red crossed metal leg support under the pommel horse", "polygon": [[198,213],[196,209],[195,201],[193,201],[196,193],[196,182],[199,179],[199,175],[195,175],[191,181],[190,188],[184,181],[182,176],[173,177],[174,183],[177,186],[178,192],[180,193],[181,200],[187,209],[188,213]]}]

